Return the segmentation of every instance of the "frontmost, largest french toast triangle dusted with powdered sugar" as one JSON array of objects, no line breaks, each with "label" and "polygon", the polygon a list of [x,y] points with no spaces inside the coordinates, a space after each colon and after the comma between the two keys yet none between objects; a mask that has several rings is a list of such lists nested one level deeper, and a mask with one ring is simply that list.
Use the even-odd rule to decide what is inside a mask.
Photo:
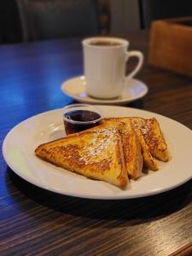
[{"label": "frontmost, largest french toast triangle dusted with powdered sugar", "polygon": [[44,143],[35,150],[42,160],[123,189],[129,179],[119,125],[99,125]]}]

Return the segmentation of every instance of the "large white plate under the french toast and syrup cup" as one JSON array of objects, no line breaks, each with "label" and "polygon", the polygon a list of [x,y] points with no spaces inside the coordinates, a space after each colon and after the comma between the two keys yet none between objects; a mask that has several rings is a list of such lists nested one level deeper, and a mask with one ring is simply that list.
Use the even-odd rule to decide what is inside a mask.
[{"label": "large white plate under the french toast and syrup cup", "polygon": [[160,122],[172,159],[160,163],[158,172],[131,180],[127,189],[88,179],[55,167],[35,156],[41,143],[64,135],[61,109],[40,113],[16,125],[3,142],[3,156],[9,167],[26,181],[63,195],[94,199],[126,199],[159,194],[173,189],[192,177],[192,131],[156,113],[114,106],[98,106],[103,116],[155,117]]}]

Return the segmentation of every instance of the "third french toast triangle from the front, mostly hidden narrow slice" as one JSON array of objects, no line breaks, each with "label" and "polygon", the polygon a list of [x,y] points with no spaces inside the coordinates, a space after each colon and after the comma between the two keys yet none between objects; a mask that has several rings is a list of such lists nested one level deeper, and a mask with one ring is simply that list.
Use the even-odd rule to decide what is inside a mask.
[{"label": "third french toast triangle from the front, mostly hidden narrow slice", "polygon": [[137,134],[137,140],[139,141],[141,148],[142,148],[142,154],[143,154],[143,165],[147,166],[149,170],[157,171],[159,169],[158,163],[156,160],[154,160],[154,157],[151,155],[150,150],[148,148],[148,144],[145,142],[145,139],[143,137],[143,133],[141,131],[141,120],[140,118],[108,118],[108,119],[102,119],[102,124],[106,124],[111,121],[116,122],[131,122],[131,125],[133,126],[136,134]]}]

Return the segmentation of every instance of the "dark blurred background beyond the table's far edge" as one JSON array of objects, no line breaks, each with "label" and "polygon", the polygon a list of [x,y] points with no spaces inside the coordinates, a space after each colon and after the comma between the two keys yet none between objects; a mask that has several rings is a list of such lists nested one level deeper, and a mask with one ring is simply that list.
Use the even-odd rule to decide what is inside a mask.
[{"label": "dark blurred background beyond the table's far edge", "polygon": [[0,44],[122,34],[182,16],[192,16],[191,0],[6,0],[0,6]]}]

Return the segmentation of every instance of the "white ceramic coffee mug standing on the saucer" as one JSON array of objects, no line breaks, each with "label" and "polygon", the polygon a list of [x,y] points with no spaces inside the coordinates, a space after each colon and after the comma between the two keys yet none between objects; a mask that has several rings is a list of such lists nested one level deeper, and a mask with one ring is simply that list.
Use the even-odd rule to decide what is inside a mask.
[{"label": "white ceramic coffee mug standing on the saucer", "polygon": [[[86,38],[84,49],[84,76],[89,96],[110,99],[121,95],[123,87],[143,66],[143,53],[128,51],[129,41],[121,38]],[[126,62],[138,58],[137,66],[125,76]]]}]

